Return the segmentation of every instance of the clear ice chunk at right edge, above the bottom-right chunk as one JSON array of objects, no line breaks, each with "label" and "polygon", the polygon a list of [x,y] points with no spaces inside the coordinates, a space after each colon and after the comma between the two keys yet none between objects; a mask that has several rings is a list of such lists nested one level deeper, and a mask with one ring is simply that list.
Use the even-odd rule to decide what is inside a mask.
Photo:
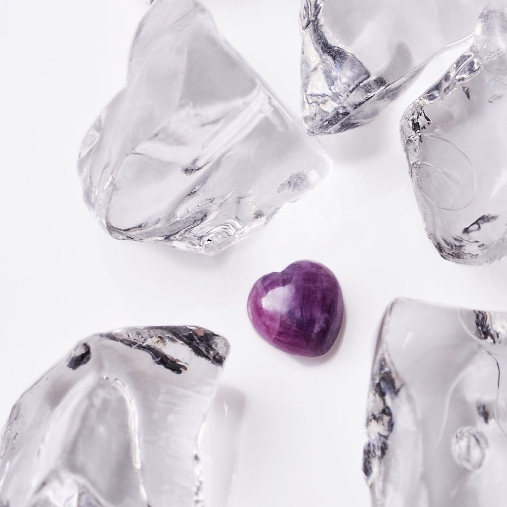
[{"label": "clear ice chunk at right edge, above the bottom-right chunk", "polygon": [[402,141],[426,232],[462,264],[507,253],[507,7],[488,6],[470,49],[405,112]]}]

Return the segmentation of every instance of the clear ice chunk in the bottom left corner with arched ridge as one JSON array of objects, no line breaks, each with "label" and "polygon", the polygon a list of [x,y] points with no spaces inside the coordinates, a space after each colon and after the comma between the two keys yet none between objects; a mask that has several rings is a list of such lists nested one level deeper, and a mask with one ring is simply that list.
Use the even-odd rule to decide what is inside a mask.
[{"label": "clear ice chunk in the bottom left corner with arched ridge", "polygon": [[0,505],[201,505],[198,435],[228,350],[196,327],[80,342],[12,409]]}]

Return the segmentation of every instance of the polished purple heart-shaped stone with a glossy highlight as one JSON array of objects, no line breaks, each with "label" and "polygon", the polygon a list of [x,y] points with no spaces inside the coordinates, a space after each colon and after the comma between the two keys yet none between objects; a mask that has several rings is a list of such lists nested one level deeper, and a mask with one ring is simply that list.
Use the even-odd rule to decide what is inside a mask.
[{"label": "polished purple heart-shaped stone with a glossy highlight", "polygon": [[322,264],[299,261],[253,285],[248,316],[275,347],[296,355],[325,354],[343,320],[343,296],[335,275]]}]

